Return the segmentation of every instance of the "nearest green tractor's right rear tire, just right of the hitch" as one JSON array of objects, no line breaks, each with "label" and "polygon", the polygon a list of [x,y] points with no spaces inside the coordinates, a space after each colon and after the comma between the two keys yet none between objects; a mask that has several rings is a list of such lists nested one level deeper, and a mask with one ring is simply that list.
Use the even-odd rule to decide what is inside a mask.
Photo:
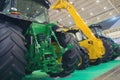
[{"label": "nearest green tractor's right rear tire, just right of the hitch", "polygon": [[[67,33],[58,33],[57,34],[58,41],[60,42],[60,45],[64,48],[67,47],[67,44],[72,43],[75,44],[75,38]],[[79,51],[76,49],[77,47],[74,45],[74,47],[70,50],[68,50],[66,53],[62,56],[62,68],[63,71],[60,73],[49,73],[51,77],[65,77],[70,75],[74,70],[77,68],[77,64],[79,63],[79,57],[78,54]]]}]

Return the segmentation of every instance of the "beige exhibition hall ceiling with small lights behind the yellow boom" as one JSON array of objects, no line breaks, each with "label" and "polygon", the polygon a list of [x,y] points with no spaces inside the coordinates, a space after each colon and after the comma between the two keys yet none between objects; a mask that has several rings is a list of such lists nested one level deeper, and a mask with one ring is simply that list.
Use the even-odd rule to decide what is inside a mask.
[{"label": "beige exhibition hall ceiling with small lights behind the yellow boom", "polygon": [[[52,4],[57,0],[50,0]],[[95,24],[120,14],[120,0],[69,0],[87,24]],[[50,20],[65,26],[74,25],[66,10],[49,10]]]}]

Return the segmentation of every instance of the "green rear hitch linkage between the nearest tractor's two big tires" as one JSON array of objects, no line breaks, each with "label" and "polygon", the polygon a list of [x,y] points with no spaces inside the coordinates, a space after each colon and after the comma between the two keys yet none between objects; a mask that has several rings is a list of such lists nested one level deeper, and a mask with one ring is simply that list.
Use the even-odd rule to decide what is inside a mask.
[{"label": "green rear hitch linkage between the nearest tractor's two big tires", "polygon": [[[62,63],[57,60],[73,46],[69,44],[66,48],[63,48],[59,44],[54,31],[52,31],[53,25],[52,23],[32,23],[27,30],[26,34],[31,39],[30,44],[28,44],[28,54],[26,55],[28,62],[26,69],[28,72],[41,70],[44,72],[58,73],[63,70]],[[56,47],[51,42],[52,37],[59,46],[59,54],[55,52]]]}]

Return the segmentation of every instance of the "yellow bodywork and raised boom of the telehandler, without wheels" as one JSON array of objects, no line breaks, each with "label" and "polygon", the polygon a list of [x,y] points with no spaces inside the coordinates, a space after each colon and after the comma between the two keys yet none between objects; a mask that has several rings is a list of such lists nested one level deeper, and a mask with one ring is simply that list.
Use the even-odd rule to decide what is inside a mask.
[{"label": "yellow bodywork and raised boom of the telehandler, without wheels", "polygon": [[[84,47],[88,51],[90,60],[102,58],[105,54],[105,48],[100,39],[96,38],[82,17],[77,13],[74,6],[68,0],[58,0],[58,2],[52,6],[52,9],[66,9],[71,17],[74,19],[76,29],[81,30],[87,39],[79,42],[80,46]],[[67,30],[65,30],[67,31]]]}]

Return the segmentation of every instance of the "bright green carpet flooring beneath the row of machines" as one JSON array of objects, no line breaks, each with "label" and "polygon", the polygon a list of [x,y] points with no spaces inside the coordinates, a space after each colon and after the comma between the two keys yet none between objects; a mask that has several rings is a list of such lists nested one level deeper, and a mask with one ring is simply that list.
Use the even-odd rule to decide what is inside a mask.
[{"label": "bright green carpet flooring beneath the row of machines", "polygon": [[23,80],[94,80],[96,77],[108,72],[120,65],[120,60],[102,63],[97,66],[90,66],[86,70],[79,70],[66,78],[49,78],[47,74],[35,71],[32,75],[27,75]]}]

